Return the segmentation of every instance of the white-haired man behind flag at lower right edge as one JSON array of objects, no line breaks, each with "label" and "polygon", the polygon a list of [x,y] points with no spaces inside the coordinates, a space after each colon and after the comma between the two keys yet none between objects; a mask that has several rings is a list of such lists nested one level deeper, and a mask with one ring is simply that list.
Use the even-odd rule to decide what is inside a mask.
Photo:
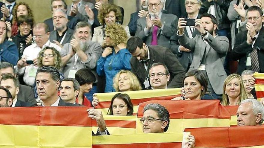
[{"label": "white-haired man behind flag at lower right edge", "polygon": [[236,112],[237,126],[262,125],[264,120],[264,107],[256,99],[241,101]]}]

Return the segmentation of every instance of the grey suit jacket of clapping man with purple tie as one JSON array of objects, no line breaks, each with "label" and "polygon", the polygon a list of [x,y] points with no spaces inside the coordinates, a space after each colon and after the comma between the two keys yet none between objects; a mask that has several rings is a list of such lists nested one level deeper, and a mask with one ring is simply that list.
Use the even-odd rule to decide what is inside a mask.
[{"label": "grey suit jacket of clapping man with purple tie", "polygon": [[[161,22],[164,25],[163,30],[158,29],[158,45],[169,48],[170,47],[170,37],[176,33],[176,24],[178,23],[178,17],[173,14],[161,14]],[[146,17],[142,17],[137,20],[137,31],[136,35],[140,37],[143,42],[147,45],[151,44],[153,27],[149,30],[147,36],[145,36],[144,28],[146,27]]]}]

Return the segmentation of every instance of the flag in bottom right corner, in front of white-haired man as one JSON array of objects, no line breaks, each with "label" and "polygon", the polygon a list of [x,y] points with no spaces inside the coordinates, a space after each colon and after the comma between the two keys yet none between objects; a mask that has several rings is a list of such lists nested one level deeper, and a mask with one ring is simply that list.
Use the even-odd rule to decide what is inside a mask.
[{"label": "flag in bottom right corner, in front of white-haired man", "polygon": [[264,126],[185,129],[195,137],[194,147],[264,147]]}]

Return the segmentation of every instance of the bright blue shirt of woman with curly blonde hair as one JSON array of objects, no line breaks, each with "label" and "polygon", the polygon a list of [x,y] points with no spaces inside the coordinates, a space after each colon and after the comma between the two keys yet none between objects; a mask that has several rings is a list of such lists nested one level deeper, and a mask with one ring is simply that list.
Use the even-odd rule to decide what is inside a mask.
[{"label": "bright blue shirt of woman with curly blonde hair", "polygon": [[[114,52],[107,57],[100,57],[97,61],[96,72],[99,76],[106,77],[106,86],[104,92],[116,91],[113,88],[113,78],[122,69],[131,70],[130,58],[131,54],[128,49],[124,48],[117,53]],[[110,63],[112,61],[112,63]]]}]

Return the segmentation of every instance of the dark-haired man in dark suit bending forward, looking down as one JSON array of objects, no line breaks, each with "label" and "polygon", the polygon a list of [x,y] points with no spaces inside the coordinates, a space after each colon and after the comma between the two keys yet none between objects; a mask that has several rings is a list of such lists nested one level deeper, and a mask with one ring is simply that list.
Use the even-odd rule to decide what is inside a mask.
[{"label": "dark-haired man in dark suit bending forward, looking down", "polygon": [[143,89],[150,89],[149,68],[156,62],[164,63],[170,71],[168,88],[182,87],[185,71],[169,48],[146,45],[139,37],[131,37],[127,48],[133,56],[130,60],[131,70],[138,77]]}]

